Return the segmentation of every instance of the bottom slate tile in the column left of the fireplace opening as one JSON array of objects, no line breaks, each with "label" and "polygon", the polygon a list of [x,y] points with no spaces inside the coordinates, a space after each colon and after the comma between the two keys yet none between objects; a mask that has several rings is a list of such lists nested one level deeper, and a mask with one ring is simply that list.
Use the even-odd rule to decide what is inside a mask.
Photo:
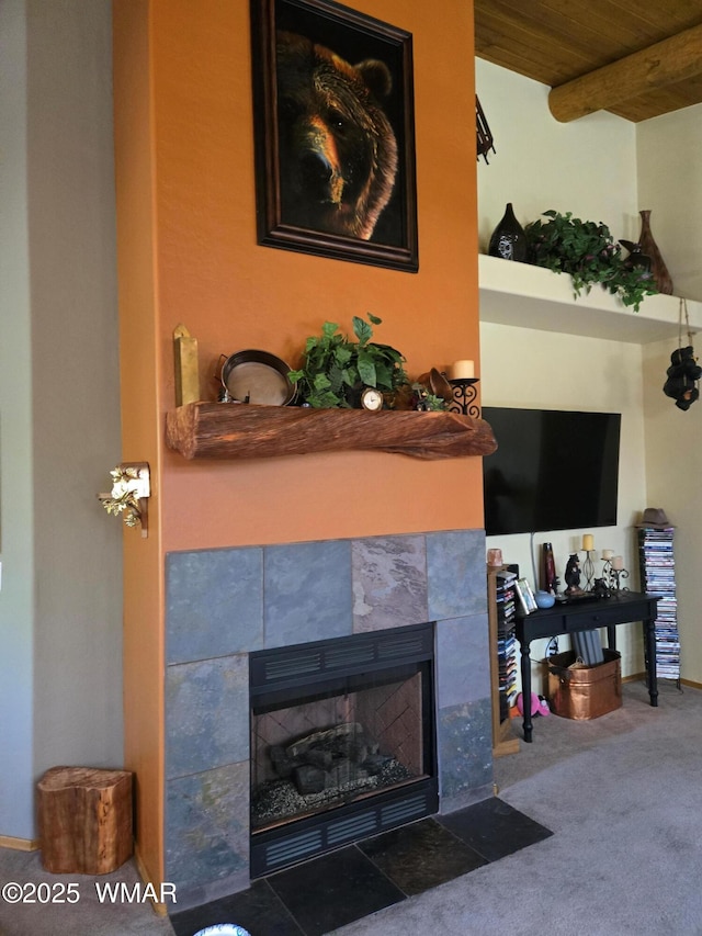
[{"label": "bottom slate tile in the column left of the fireplace opening", "polygon": [[169,780],[166,879],[193,887],[249,865],[249,765]]}]

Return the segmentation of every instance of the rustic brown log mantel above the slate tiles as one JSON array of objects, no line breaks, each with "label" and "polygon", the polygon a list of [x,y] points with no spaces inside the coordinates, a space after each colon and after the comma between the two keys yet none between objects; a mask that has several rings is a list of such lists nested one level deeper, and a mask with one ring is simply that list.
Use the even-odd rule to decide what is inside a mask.
[{"label": "rustic brown log mantel above the slate tiles", "polygon": [[497,448],[489,424],[456,413],[231,403],[190,403],[169,411],[166,442],[186,459],[233,460],[353,449],[435,460],[488,455]]}]

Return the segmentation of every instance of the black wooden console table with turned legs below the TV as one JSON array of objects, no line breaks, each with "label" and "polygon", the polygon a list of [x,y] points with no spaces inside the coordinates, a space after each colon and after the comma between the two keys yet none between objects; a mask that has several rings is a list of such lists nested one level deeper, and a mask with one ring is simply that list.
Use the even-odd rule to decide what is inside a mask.
[{"label": "black wooden console table with turned legs below the TV", "polygon": [[[646,683],[650,704],[658,704],[656,678],[656,610],[660,595],[620,591],[611,598],[581,598],[571,602],[556,602],[553,608],[541,608],[525,617],[518,617],[514,633],[521,650],[522,698],[531,699],[531,642],[542,638],[593,631],[607,628],[610,650],[616,650],[615,628],[632,621],[643,621],[646,656]],[[524,741],[531,741],[531,706],[524,704]]]}]

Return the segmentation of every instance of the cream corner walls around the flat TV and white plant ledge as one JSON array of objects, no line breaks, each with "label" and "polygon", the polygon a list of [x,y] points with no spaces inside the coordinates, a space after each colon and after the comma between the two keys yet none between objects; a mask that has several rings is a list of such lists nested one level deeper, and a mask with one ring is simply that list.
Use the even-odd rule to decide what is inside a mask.
[{"label": "cream corner walls around the flat TV and white plant ledge", "polygon": [[[639,207],[652,208],[654,235],[676,293],[702,296],[702,170],[694,158],[702,143],[702,108],[641,124],[604,113],[559,124],[548,112],[547,88],[480,60],[476,60],[476,90],[497,149],[489,165],[478,167],[483,251],[508,201],[522,224],[553,207],[603,221],[615,238],[634,239]],[[593,531],[596,546],[615,549],[636,570],[633,523],[638,511],[663,506],[678,523],[681,672],[683,678],[702,683],[697,613],[702,561],[698,535],[702,501],[697,483],[702,403],[682,413],[661,392],[677,340],[637,346],[609,341],[605,335],[597,340],[484,323],[480,346],[486,405],[622,413],[620,525]],[[574,531],[575,542],[581,532]],[[488,544],[502,546],[510,561],[531,570],[529,539],[509,537]],[[571,535],[537,537],[536,545],[545,539],[553,540],[563,574]],[[638,629],[629,629],[621,649],[624,674],[639,672]],[[536,649],[533,656],[539,655]]]}]

